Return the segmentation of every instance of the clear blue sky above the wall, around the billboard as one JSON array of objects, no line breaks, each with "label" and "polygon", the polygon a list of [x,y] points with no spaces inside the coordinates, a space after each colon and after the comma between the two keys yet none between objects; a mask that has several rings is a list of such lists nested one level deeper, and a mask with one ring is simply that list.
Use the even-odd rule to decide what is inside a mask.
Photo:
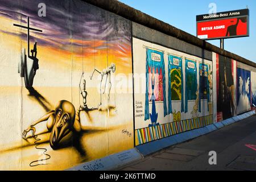
[{"label": "clear blue sky above the wall, around the billboard", "polygon": [[[256,63],[256,1],[255,0],[119,0],[137,10],[163,20],[196,36],[196,15],[207,14],[209,4],[217,5],[217,12],[250,10],[250,36],[225,39],[224,48]],[[220,40],[208,41],[220,47]]]}]

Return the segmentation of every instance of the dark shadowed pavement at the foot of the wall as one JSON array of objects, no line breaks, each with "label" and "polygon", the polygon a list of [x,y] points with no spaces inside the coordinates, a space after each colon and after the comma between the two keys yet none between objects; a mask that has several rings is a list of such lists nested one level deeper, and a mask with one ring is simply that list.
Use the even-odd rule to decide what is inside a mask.
[{"label": "dark shadowed pavement at the foot of the wall", "polygon": [[[209,164],[210,151],[216,151],[216,165]],[[119,168],[121,171],[255,171],[256,117],[222,127],[146,156]]]}]

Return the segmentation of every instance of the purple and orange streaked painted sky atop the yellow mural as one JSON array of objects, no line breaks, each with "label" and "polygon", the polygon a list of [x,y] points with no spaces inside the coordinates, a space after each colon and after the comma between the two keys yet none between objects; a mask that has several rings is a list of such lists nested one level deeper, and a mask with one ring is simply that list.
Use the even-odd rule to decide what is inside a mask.
[{"label": "purple and orange streaked painted sky atop the yellow mural", "polygon": [[[46,4],[46,17],[38,16],[39,3]],[[131,49],[130,22],[85,2],[0,0],[1,16],[10,19],[10,29],[0,28],[0,31],[10,35],[16,35],[13,23],[27,26],[27,16],[30,16],[30,26],[43,30],[43,33],[31,31],[31,41],[36,40],[41,46],[68,51],[70,39],[73,39],[73,51],[94,47],[96,50],[108,48],[126,53]],[[19,36],[26,40],[26,31]]]}]

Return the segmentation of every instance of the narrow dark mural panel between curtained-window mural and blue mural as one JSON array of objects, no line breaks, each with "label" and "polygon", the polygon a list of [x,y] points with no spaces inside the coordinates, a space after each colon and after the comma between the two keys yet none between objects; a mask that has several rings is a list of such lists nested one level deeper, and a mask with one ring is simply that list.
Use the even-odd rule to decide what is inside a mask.
[{"label": "narrow dark mural panel between curtained-window mural and blue mural", "polygon": [[237,113],[234,69],[234,60],[217,55],[217,121],[231,118]]}]

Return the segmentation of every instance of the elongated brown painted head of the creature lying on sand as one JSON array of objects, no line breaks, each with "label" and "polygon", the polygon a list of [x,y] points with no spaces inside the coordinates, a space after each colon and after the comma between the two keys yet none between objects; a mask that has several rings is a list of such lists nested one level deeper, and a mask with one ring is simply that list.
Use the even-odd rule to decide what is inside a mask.
[{"label": "elongated brown painted head of the creature lying on sand", "polygon": [[61,147],[67,143],[71,135],[73,124],[75,122],[75,107],[71,102],[59,101],[55,108],[55,119],[52,132],[49,138],[50,146],[53,149]]}]

